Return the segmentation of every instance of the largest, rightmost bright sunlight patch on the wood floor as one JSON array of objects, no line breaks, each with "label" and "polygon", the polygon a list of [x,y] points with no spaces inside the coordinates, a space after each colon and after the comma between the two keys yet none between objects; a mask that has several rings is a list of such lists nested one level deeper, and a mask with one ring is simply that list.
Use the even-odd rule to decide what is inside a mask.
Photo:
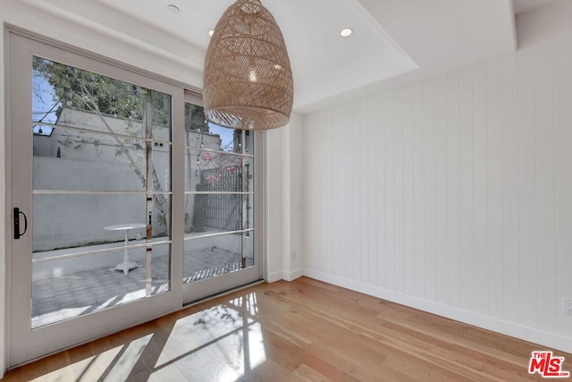
[{"label": "largest, rightmost bright sunlight patch on the wood floor", "polygon": [[[172,328],[153,378],[177,375],[235,381],[266,361],[256,296],[249,295],[181,318]],[[171,374],[174,373],[174,374]]]}]

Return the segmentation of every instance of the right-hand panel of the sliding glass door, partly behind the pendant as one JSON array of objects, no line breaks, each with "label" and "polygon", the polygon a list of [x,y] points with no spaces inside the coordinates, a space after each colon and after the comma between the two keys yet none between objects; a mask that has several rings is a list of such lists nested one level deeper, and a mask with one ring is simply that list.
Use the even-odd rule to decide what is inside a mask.
[{"label": "right-hand panel of the sliding glass door, partly behind the pendant", "polygon": [[[261,278],[254,245],[254,133],[205,121],[185,104],[184,300]],[[229,286],[230,285],[230,286]]]}]

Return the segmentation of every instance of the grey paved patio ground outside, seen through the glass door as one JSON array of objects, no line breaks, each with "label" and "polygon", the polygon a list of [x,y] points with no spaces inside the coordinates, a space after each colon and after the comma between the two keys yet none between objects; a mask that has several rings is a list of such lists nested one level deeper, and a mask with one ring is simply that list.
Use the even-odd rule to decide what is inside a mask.
[{"label": "grey paved patio ground outside, seen through the glass door", "polygon": [[[152,260],[152,294],[169,289],[165,255]],[[139,265],[144,266],[142,262]],[[253,259],[246,266],[253,266]],[[240,254],[217,247],[189,250],[184,254],[183,283],[193,283],[240,269]],[[110,267],[99,267],[62,276],[41,278],[32,283],[31,327],[43,327],[67,318],[113,307],[145,297],[145,267],[127,275]]]}]

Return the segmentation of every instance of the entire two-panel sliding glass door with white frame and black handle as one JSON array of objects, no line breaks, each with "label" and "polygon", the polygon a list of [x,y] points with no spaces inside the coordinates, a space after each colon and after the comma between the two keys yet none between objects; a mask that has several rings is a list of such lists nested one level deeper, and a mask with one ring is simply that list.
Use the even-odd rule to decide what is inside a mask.
[{"label": "entire two-panel sliding glass door with white frame and black handle", "polygon": [[10,366],[262,279],[262,140],[9,33]]}]

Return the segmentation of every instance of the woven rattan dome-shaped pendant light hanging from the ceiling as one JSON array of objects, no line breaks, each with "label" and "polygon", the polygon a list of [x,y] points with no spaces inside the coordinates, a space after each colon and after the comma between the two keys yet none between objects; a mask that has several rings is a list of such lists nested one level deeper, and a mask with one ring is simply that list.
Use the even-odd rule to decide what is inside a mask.
[{"label": "woven rattan dome-shaped pendant light hanging from the ceiling", "polygon": [[214,28],[203,74],[206,120],[241,130],[290,121],[290,59],[282,32],[259,0],[238,0]]}]

